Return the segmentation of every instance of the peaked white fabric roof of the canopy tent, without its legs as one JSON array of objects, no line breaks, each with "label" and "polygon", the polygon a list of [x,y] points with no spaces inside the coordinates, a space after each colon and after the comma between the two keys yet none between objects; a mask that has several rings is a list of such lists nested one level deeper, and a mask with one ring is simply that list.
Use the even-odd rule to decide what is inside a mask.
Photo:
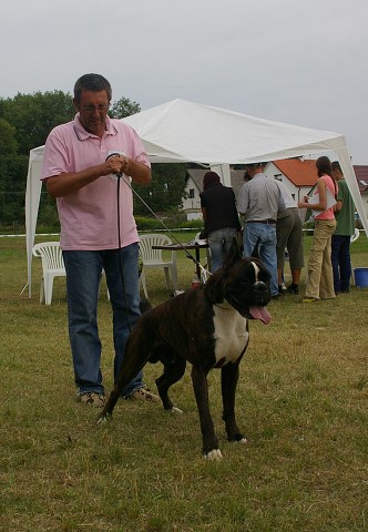
[{"label": "peaked white fabric roof of the canopy tent, without its legs", "polygon": [[151,162],[244,164],[346,146],[344,135],[272,122],[186,100],[126,116]]}]

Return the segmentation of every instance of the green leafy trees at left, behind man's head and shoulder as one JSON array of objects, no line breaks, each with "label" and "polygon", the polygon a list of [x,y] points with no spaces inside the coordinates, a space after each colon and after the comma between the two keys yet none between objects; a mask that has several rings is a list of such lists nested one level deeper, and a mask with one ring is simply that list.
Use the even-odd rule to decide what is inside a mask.
[{"label": "green leafy trees at left, behind man's head and shoulder", "polygon": [[[110,114],[120,119],[139,111],[136,102],[121,98]],[[43,145],[55,125],[74,115],[72,94],[62,91],[0,99],[0,223],[23,222],[29,152]],[[39,221],[54,225],[55,219],[55,203],[42,194]]]}]

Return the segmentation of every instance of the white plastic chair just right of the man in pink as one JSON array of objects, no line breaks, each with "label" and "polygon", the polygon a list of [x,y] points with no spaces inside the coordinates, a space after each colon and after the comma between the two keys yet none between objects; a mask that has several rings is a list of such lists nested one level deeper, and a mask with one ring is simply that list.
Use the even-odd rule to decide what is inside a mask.
[{"label": "white plastic chair just right of the man in pink", "polygon": [[162,249],[152,249],[152,246],[167,246],[172,244],[168,236],[152,234],[140,235],[140,253],[143,263],[143,269],[140,277],[140,287],[143,286],[143,291],[149,299],[145,272],[152,268],[164,268],[166,286],[170,288],[170,275],[174,290],[177,290],[177,265],[176,265],[176,252],[171,253],[171,260],[164,260],[162,257]]}]

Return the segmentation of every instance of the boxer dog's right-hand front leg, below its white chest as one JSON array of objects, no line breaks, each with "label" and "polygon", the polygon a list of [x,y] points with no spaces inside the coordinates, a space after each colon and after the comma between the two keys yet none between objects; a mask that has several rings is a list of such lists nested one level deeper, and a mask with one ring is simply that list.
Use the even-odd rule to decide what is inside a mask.
[{"label": "boxer dog's right-hand front leg, below its white chest", "polygon": [[221,387],[223,395],[223,420],[228,441],[246,442],[246,438],[241,433],[235,419],[235,392],[239,378],[238,364],[224,366],[221,370]]}]

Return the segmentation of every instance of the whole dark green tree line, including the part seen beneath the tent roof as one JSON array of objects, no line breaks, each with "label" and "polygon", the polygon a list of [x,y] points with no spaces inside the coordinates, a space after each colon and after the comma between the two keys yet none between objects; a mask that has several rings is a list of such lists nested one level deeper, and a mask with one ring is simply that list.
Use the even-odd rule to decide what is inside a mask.
[{"label": "whole dark green tree line, including the part seen beneath the tent roof", "polygon": [[[112,103],[109,115],[123,119],[141,111],[140,104],[124,96]],[[30,150],[42,146],[50,131],[73,120],[71,93],[62,91],[18,93],[0,98],[0,228],[24,225],[24,196]],[[153,164],[152,182],[136,187],[135,214],[177,212],[185,190],[185,164]],[[58,225],[55,202],[42,187],[39,224]]]}]

